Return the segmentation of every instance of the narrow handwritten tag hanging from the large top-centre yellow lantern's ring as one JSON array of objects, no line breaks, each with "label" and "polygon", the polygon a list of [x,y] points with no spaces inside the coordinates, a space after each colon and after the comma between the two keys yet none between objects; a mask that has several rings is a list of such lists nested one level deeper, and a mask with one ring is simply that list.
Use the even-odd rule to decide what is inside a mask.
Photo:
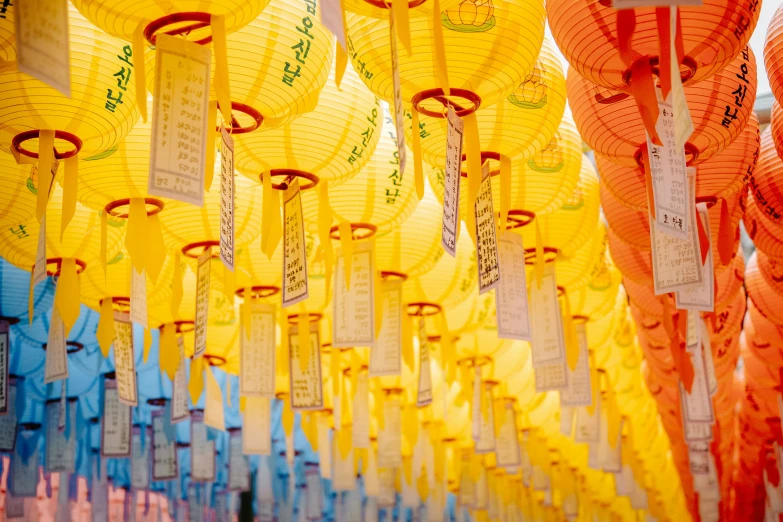
[{"label": "narrow handwritten tag hanging from the large top-centre yellow lantern's ring", "polygon": [[449,105],[446,114],[446,175],[443,187],[443,230],[440,243],[452,257],[457,255],[459,233],[459,189],[462,175],[462,135],[465,124]]}]

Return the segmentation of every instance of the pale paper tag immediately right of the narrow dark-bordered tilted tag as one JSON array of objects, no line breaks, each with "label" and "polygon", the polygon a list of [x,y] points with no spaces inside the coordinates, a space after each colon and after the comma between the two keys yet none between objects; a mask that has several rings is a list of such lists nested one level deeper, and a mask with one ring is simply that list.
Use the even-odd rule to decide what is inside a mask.
[{"label": "pale paper tag immediately right of the narrow dark-bordered tilted tag", "polygon": [[530,341],[525,247],[522,236],[505,231],[498,238],[500,283],[495,289],[498,338]]}]

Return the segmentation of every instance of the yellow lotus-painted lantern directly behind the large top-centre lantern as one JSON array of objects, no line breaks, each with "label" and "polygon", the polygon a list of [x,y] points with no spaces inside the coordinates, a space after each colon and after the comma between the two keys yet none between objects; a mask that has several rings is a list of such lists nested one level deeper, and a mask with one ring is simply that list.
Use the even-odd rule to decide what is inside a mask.
[{"label": "yellow lotus-painted lantern directly behind the large top-centre lantern", "polygon": [[[554,44],[544,39],[535,67],[506,98],[476,112],[481,151],[514,160],[528,160],[555,135],[565,110],[565,75],[554,54]],[[422,157],[436,167],[446,164],[447,121],[419,115]],[[410,114],[405,128],[411,140]]]}]

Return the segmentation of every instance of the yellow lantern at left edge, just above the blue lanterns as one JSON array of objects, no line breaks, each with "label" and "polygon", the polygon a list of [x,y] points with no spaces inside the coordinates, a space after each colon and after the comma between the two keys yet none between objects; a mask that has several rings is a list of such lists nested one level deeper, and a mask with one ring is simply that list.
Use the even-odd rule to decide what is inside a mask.
[{"label": "yellow lantern at left edge, just above the blue lanterns", "polygon": [[[94,210],[76,203],[76,211],[70,225],[60,241],[60,218],[63,204],[63,189],[57,183],[52,184],[52,195],[46,211],[46,257],[47,267],[51,273],[60,269],[60,263],[65,258],[76,259],[78,271],[98,265],[101,250],[101,218]],[[38,251],[38,233],[40,225],[35,217],[23,223],[25,235],[14,233],[16,228],[0,230],[0,255],[15,266],[31,270],[35,264]],[[107,258],[113,258],[120,247],[120,238],[124,223],[113,219],[108,220]]]}]

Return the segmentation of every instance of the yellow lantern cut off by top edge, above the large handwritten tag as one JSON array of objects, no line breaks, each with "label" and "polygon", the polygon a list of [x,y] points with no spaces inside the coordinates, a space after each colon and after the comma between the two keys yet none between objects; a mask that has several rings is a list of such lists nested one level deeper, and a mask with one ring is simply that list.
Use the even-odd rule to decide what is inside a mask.
[{"label": "yellow lantern cut off by top edge, above the large handwritten tag", "polygon": [[[191,39],[203,38],[204,27],[210,17],[225,17],[226,31],[233,32],[256,19],[268,2],[250,0],[172,0],[161,5],[159,2],[137,2],[133,0],[76,0],[73,4],[92,23],[123,40],[132,40],[140,23],[151,22],[163,27],[173,25],[172,29],[187,32]],[[184,25],[194,22],[192,25]],[[175,33],[178,34],[178,33]],[[207,40],[207,42],[209,39]]]}]

